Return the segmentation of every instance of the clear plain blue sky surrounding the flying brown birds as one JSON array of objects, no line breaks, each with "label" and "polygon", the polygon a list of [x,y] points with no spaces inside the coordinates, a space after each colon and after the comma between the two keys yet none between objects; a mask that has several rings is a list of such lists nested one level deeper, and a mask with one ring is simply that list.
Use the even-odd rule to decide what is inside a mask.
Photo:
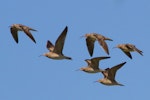
[{"label": "clear plain blue sky surrounding the flying brown birds", "polygon": [[[150,34],[149,0],[3,0],[0,4],[0,100],[148,100],[148,45]],[[30,26],[37,43],[23,32],[19,43],[13,40],[9,26]],[[51,60],[39,55],[48,52],[47,40],[55,43],[68,26],[63,49],[69,60]],[[110,59],[100,63],[102,69],[126,61],[116,75],[125,86],[104,86],[94,81],[102,74],[75,71],[90,59],[85,33],[96,32],[113,39],[108,41]],[[129,59],[117,44],[132,43],[144,56],[132,53]],[[95,43],[93,57],[108,56]]]}]

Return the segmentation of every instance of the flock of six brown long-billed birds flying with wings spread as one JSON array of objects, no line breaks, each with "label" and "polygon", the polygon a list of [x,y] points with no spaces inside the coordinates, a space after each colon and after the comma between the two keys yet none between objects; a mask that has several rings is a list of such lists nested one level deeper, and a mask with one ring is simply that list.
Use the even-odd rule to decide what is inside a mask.
[{"label": "flock of six brown long-billed birds flying with wings spread", "polygon": [[[36,31],[33,28],[30,28],[30,27],[22,25],[22,24],[13,24],[10,27],[10,31],[11,31],[11,34],[12,34],[14,40],[16,41],[16,43],[19,42],[18,41],[18,31],[23,31],[34,43],[36,43],[34,37],[32,36],[32,34],[30,32],[30,31]],[[71,57],[65,56],[62,52],[64,43],[65,43],[65,38],[67,35],[67,31],[68,31],[68,27],[66,26],[65,29],[60,34],[60,36],[57,38],[55,45],[53,43],[51,43],[51,41],[48,40],[46,47],[49,50],[49,52],[44,53],[41,56],[45,56],[45,57],[55,59],[55,60],[62,60],[62,59],[71,60],[72,59]],[[105,42],[105,40],[113,41],[112,39],[105,37],[101,34],[97,34],[97,33],[88,33],[88,34],[85,34],[83,37],[86,38],[87,49],[88,49],[89,55],[91,57],[93,56],[95,41],[98,41],[100,46],[109,55],[108,45]],[[132,55],[130,52],[138,52],[140,55],[143,55],[142,54],[143,52],[141,50],[137,49],[135,47],[135,45],[133,45],[133,44],[119,44],[115,48],[121,49],[130,59],[132,59]],[[95,57],[92,59],[86,59],[85,61],[87,63],[87,66],[82,67],[79,70],[87,72],[87,73],[98,73],[98,72],[102,73],[104,78],[99,79],[96,82],[100,82],[104,85],[123,86],[123,84],[120,84],[115,80],[115,75],[116,75],[117,70],[120,69],[123,65],[125,65],[126,62],[115,65],[112,68],[100,69],[99,61],[108,59],[108,58],[110,58],[110,57],[109,56],[108,57]]]}]

